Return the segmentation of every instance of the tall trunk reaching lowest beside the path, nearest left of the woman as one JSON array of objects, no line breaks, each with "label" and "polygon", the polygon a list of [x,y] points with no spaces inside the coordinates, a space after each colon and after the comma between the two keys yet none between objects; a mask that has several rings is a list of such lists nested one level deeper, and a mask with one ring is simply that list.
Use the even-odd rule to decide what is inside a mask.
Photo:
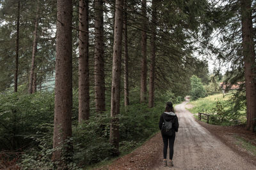
[{"label": "tall trunk reaching lowest beside the path, nearest left of the woman", "polygon": [[123,29],[123,1],[116,0],[115,34],[113,45],[113,67],[111,87],[111,126],[109,141],[115,147],[113,155],[119,155],[119,119],[120,113],[120,79],[122,56],[122,29]]}]

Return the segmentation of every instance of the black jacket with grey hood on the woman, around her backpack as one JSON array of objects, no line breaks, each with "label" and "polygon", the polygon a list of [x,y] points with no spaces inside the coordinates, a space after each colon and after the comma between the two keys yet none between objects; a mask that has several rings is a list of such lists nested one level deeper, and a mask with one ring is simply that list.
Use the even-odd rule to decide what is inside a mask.
[{"label": "black jacket with grey hood on the woman, around her backpack", "polygon": [[178,117],[175,113],[173,113],[172,111],[171,112],[164,112],[161,117],[160,117],[160,120],[159,120],[159,129],[161,130],[162,129],[162,125],[163,125],[163,122],[164,122],[164,119],[165,121],[169,122],[169,121],[172,121],[172,124],[173,124],[173,129],[175,132],[178,132],[178,129],[179,129],[179,121],[178,121]]}]

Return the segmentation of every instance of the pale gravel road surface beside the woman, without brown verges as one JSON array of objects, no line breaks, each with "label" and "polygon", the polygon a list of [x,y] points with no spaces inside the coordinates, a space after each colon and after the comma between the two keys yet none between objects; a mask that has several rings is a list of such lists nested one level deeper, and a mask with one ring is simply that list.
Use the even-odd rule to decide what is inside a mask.
[{"label": "pale gravel road surface beside the woman, without brown verges", "polygon": [[180,127],[174,144],[174,167],[163,167],[163,156],[159,156],[152,169],[256,169],[198,124],[185,109],[186,103],[175,107]]}]

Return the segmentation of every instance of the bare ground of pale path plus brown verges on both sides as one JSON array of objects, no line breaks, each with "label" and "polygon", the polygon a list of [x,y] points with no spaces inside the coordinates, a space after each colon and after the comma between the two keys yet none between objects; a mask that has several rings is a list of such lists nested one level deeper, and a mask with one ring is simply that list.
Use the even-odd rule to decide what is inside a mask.
[{"label": "bare ground of pale path plus brown verges on both sides", "polygon": [[245,131],[243,126],[222,127],[195,120],[185,108],[187,103],[175,107],[180,127],[173,167],[163,167],[159,132],[133,152],[99,169],[256,169],[256,154],[242,146],[242,141],[256,146],[255,134]]}]

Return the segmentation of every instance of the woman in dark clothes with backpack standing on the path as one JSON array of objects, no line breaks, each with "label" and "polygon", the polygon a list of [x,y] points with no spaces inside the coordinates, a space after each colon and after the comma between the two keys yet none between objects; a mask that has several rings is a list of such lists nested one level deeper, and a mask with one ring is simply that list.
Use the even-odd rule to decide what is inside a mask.
[{"label": "woman in dark clothes with backpack standing on the path", "polygon": [[[164,166],[173,167],[173,145],[175,140],[175,132],[178,132],[179,122],[178,117],[174,113],[172,102],[166,103],[166,108],[164,113],[161,115],[159,120],[159,129],[161,130],[163,142],[164,142]],[[170,161],[166,160],[167,149],[168,149],[168,141],[170,148]]]}]

